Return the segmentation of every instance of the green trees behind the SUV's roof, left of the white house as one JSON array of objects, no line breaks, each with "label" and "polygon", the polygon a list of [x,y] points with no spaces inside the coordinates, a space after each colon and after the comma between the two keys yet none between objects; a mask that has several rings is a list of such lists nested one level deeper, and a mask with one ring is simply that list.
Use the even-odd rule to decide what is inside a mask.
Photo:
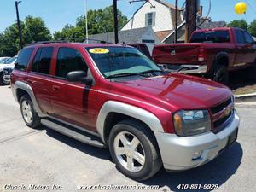
[{"label": "green trees behind the SUV's roof, left of the white house", "polygon": [[[122,15],[118,10],[119,28],[125,26],[127,17]],[[98,34],[102,32],[113,32],[113,6],[105,9],[89,10],[88,11],[88,33]],[[57,39],[73,39],[74,41],[81,41],[86,38],[85,17],[80,16],[77,19],[76,26],[65,26],[61,32],[54,33],[55,40]]]}]

